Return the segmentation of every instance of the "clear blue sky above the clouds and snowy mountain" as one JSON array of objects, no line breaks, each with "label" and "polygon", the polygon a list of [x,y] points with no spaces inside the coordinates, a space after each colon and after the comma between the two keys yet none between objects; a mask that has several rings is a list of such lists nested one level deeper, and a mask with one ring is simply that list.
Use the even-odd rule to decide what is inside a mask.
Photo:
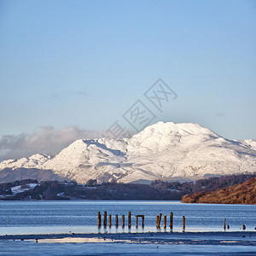
[{"label": "clear blue sky above the clouds and snowy mountain", "polygon": [[122,114],[160,78],[177,99],[162,112],[147,102],[152,123],[255,139],[255,28],[246,0],[0,0],[2,143],[117,119],[131,129]]}]

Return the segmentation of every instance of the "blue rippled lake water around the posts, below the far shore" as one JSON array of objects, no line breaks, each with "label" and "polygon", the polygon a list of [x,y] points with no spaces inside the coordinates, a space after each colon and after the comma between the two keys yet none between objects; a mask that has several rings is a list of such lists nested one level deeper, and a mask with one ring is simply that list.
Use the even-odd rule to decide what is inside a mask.
[{"label": "blue rippled lake water around the posts, below the far shore", "polygon": [[[113,226],[98,229],[98,212],[111,214]],[[127,228],[127,216],[131,212],[131,230]],[[167,229],[156,229],[156,215],[167,216]],[[24,234],[61,233],[113,233],[170,231],[170,212],[173,212],[173,231],[223,231],[224,218],[230,231],[255,231],[256,205],[183,204],[177,201],[0,201],[0,236]],[[119,227],[115,227],[115,214],[119,214]],[[121,215],[125,215],[125,228]],[[144,229],[139,219],[135,227],[135,215],[145,215]],[[162,215],[162,216],[163,216]],[[103,224],[103,222],[102,222]],[[227,230],[229,231],[229,230]]]}]

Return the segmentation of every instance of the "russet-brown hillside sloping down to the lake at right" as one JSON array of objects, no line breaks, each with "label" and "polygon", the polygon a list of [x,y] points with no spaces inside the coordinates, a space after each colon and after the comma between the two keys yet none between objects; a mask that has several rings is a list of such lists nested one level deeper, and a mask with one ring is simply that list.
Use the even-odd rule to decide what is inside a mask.
[{"label": "russet-brown hillside sloping down to the lake at right", "polygon": [[199,192],[183,195],[183,203],[211,203],[211,204],[256,204],[256,177],[245,183],[218,189],[213,192]]}]

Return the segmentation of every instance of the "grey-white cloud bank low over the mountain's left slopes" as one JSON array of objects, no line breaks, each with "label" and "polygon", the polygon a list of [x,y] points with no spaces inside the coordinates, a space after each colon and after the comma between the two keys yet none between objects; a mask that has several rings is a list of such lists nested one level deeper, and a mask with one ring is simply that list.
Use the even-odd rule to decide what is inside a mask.
[{"label": "grey-white cloud bank low over the mountain's left slopes", "polygon": [[55,155],[77,139],[103,137],[103,131],[90,131],[77,126],[55,130],[53,126],[42,126],[32,134],[4,135],[0,138],[0,161],[20,159],[32,154]]}]

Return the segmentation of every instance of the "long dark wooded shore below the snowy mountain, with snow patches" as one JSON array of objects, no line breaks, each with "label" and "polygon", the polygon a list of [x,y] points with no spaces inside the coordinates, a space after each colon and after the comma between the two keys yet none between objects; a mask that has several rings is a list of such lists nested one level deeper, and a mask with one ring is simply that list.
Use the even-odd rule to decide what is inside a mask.
[{"label": "long dark wooded shore below the snowy mountain, with snow patches", "polygon": [[[256,173],[210,177],[193,182],[163,182],[146,184],[102,183],[90,180],[87,184],[27,179],[14,183],[0,184],[0,200],[153,200],[181,201],[183,195],[200,191],[213,191],[243,183]],[[38,183],[32,189],[27,184]],[[27,189],[13,195],[11,188]]]}]

